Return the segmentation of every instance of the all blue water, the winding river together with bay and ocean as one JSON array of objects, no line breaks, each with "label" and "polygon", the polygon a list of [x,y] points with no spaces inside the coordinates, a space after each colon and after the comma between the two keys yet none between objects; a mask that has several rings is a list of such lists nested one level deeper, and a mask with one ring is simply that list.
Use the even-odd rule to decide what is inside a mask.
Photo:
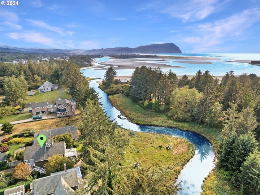
[{"label": "all blue water, the winding river together with bay and ocean", "polygon": [[[162,55],[162,54],[160,54]],[[223,76],[228,71],[234,71],[234,75],[240,75],[242,73],[255,73],[260,76],[260,66],[249,65],[247,63],[234,63],[225,62],[226,60],[260,60],[260,54],[164,54],[173,56],[201,56],[201,57],[211,57],[217,58],[218,60],[191,60],[191,61],[202,61],[202,62],[213,62],[212,64],[188,64],[188,63],[178,63],[175,61],[164,61],[169,62],[168,65],[182,66],[180,68],[172,68],[172,71],[177,75],[195,75],[197,70],[202,72],[209,70],[214,76]],[[97,63],[112,60],[109,58],[98,58]],[[179,60],[185,61],[185,60]],[[145,61],[147,62],[147,61]],[[154,61],[153,61],[154,63]],[[130,70],[116,70],[117,76],[131,76],[134,69]],[[164,68],[163,72],[167,72],[169,68]],[[87,77],[104,78],[106,70],[98,70],[98,68],[89,68],[82,70],[83,74]],[[177,183],[182,181],[181,188],[177,194],[178,195],[189,195],[189,194],[201,194],[202,184],[204,178],[209,174],[209,172],[214,168],[214,150],[210,142],[198,133],[184,131],[176,128],[164,128],[164,127],[153,127],[137,125],[128,120],[119,119],[117,116],[121,115],[120,111],[117,110],[113,105],[111,105],[108,96],[101,89],[98,88],[97,80],[90,81],[90,87],[93,87],[99,93],[100,102],[103,104],[107,115],[111,119],[121,125],[125,129],[130,129],[133,131],[140,132],[156,132],[166,135],[171,135],[175,137],[182,137],[192,142],[196,146],[195,155],[193,158],[185,165],[178,176]]]}]

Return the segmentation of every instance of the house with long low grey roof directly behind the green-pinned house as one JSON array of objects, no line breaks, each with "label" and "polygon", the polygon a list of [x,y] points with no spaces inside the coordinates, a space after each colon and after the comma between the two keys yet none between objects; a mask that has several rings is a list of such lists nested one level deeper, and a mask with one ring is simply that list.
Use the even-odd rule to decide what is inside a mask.
[{"label": "house with long low grey roof directly behind the green-pinned house", "polygon": [[74,140],[77,140],[79,138],[80,132],[77,130],[76,126],[68,126],[68,127],[61,127],[61,128],[56,128],[56,129],[48,129],[48,130],[43,130],[39,131],[37,133],[34,133],[33,137],[33,145],[39,145],[37,141],[37,137],[39,135],[45,135],[45,137],[53,137],[56,135],[61,135],[64,133],[71,133],[72,138]]}]

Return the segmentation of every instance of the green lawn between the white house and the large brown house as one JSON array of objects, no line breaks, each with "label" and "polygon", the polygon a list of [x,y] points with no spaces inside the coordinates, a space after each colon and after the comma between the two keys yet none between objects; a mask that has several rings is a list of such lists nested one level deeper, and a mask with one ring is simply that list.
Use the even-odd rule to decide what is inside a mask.
[{"label": "green lawn between the white house and the large brown house", "polygon": [[[49,95],[50,93],[50,95]],[[59,98],[59,90],[53,90],[39,94],[39,90],[36,90],[33,96],[28,96],[26,102],[45,102],[47,99],[57,100]]]}]

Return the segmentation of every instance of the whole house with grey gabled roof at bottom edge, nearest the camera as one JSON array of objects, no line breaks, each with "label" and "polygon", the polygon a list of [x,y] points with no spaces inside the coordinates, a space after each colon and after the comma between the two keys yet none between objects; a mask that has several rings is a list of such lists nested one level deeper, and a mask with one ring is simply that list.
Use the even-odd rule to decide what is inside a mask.
[{"label": "whole house with grey gabled roof at bottom edge, nearest the camera", "polygon": [[80,181],[78,180],[76,170],[67,170],[61,173],[33,180],[33,182],[30,184],[30,189],[30,195],[75,195],[73,192],[76,189],[80,189]]}]

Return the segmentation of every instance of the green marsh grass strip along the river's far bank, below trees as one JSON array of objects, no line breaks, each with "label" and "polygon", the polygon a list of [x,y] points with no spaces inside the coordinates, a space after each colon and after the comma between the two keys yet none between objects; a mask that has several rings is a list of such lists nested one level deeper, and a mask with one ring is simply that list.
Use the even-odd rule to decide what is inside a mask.
[{"label": "green marsh grass strip along the river's far bank, below trees", "polygon": [[209,141],[217,146],[221,140],[221,131],[215,128],[209,128],[204,125],[199,125],[191,122],[179,122],[170,119],[166,114],[146,111],[125,95],[110,95],[108,96],[111,103],[120,110],[123,115],[136,124],[174,127],[184,130],[194,131],[207,137]]}]

